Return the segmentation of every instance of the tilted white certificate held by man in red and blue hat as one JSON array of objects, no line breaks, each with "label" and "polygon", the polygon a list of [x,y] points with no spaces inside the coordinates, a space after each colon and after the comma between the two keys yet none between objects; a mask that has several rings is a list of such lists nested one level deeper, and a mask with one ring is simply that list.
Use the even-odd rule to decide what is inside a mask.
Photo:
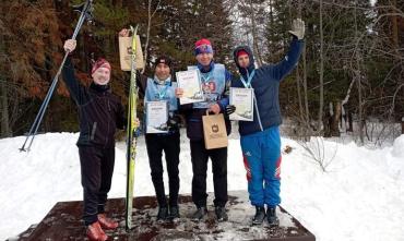
[{"label": "tilted white certificate held by man in red and blue hat", "polygon": [[179,71],[176,75],[178,87],[183,89],[183,95],[179,99],[181,105],[205,100],[198,70]]}]

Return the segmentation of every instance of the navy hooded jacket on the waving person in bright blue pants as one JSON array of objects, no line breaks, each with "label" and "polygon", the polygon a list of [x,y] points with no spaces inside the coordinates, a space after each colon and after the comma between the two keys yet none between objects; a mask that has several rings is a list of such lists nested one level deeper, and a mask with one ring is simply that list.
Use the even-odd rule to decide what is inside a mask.
[{"label": "navy hooded jacket on the waving person in bright blue pants", "polygon": [[[254,89],[254,120],[239,121],[240,135],[253,134],[282,123],[280,108],[280,82],[292,72],[298,63],[304,40],[293,38],[289,51],[281,62],[276,64],[264,64],[259,69],[254,68],[254,60],[251,49],[248,46],[237,47],[234,51],[234,59],[240,74],[247,81],[252,71],[256,72],[251,80],[251,86]],[[250,58],[248,68],[240,68],[237,62],[237,52],[245,50]],[[245,87],[240,79],[231,81],[231,87]]]}]

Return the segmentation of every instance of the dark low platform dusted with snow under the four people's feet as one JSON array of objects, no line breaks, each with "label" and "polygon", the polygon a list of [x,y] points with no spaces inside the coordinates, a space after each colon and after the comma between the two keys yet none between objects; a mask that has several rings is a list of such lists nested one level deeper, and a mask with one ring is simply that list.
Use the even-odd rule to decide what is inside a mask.
[{"label": "dark low platform dusted with snow under the four people's feet", "polygon": [[[212,196],[212,195],[210,195]],[[209,204],[212,201],[209,200]],[[133,229],[124,229],[124,200],[109,200],[107,214],[119,220],[115,231],[107,231],[108,240],[119,241],[159,241],[159,240],[270,240],[270,241],[314,241],[314,236],[300,225],[282,207],[277,210],[280,227],[250,226],[254,208],[250,206],[245,192],[230,192],[226,206],[229,220],[216,222],[214,207],[207,206],[209,215],[203,221],[194,222],[189,217],[194,212],[190,196],[180,196],[181,218],[159,222],[155,220],[157,213],[156,200],[152,196],[133,200]],[[21,241],[79,241],[87,240],[81,221],[82,202],[60,202],[47,214],[38,225],[19,236]]]}]

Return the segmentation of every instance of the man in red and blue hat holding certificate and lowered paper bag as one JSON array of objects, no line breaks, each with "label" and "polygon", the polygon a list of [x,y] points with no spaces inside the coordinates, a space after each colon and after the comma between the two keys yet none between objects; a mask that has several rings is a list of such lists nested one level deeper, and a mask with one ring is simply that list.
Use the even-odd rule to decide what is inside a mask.
[{"label": "man in red and blue hat holding certificate and lowered paper bag", "polygon": [[[187,135],[190,138],[192,161],[192,201],[197,206],[192,219],[200,220],[207,214],[206,208],[206,171],[207,160],[212,159],[213,183],[215,191],[215,213],[218,221],[227,220],[225,205],[227,203],[227,147],[206,149],[203,138],[202,116],[206,110],[213,113],[224,112],[228,104],[228,87],[231,75],[223,64],[214,63],[213,48],[207,39],[200,39],[194,48],[198,65],[188,69],[198,69],[201,74],[202,89],[205,101],[180,106],[186,115]],[[177,97],[181,97],[183,89],[177,88]],[[227,134],[230,133],[230,122],[226,121]]]}]

